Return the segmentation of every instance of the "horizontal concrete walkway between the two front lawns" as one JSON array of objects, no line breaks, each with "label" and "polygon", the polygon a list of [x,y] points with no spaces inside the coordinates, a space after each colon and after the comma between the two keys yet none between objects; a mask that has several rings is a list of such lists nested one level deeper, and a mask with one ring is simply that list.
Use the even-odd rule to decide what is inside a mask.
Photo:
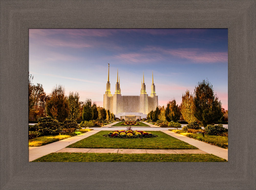
[{"label": "horizontal concrete walkway between the two front lawns", "polygon": [[63,148],[57,152],[119,153],[119,154],[207,154],[199,149],[114,149],[114,148]]}]

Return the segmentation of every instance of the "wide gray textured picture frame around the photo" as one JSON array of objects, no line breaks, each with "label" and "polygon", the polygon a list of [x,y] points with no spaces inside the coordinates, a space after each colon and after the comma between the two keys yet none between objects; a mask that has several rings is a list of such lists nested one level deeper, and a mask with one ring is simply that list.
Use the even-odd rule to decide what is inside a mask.
[{"label": "wide gray textured picture frame around the photo", "polygon": [[[0,189],[256,189],[255,5],[1,1]],[[28,162],[29,28],[228,28],[228,162]]]}]

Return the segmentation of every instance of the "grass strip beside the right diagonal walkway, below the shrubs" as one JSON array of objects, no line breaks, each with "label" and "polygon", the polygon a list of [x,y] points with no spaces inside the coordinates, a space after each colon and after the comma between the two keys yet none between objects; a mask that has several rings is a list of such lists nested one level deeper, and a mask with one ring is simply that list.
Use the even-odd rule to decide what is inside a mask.
[{"label": "grass strip beside the right diagonal walkway, below the shrubs", "polygon": [[205,137],[203,137],[200,134],[193,134],[193,133],[186,133],[183,130],[173,130],[169,129],[170,131],[173,131],[175,133],[179,133],[180,135],[184,135],[193,139],[197,139],[209,144],[216,145],[221,148],[228,148],[228,137],[218,136],[218,135],[207,135],[205,134]]}]

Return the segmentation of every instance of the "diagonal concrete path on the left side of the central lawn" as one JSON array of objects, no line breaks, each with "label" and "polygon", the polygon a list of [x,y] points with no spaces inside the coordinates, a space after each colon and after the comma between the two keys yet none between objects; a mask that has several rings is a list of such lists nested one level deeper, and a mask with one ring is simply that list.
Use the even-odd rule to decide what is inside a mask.
[{"label": "diagonal concrete path on the left side of the central lawn", "polygon": [[72,143],[75,143],[81,139],[84,139],[86,137],[89,137],[91,135],[94,135],[95,133],[99,132],[98,130],[92,130],[92,131],[88,131],[86,133],[83,133],[81,135],[77,135],[77,136],[73,136],[67,139],[63,139],[57,142],[53,142],[50,144],[46,144],[44,146],[41,147],[28,147],[28,159],[29,162],[33,161],[37,158],[40,158],[46,154],[52,153],[52,152],[56,152],[60,149],[63,149],[67,146],[69,146]]}]

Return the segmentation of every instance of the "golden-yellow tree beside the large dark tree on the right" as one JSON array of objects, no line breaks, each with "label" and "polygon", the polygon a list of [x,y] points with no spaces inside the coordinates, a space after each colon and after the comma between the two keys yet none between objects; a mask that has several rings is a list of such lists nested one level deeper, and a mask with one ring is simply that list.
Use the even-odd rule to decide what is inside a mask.
[{"label": "golden-yellow tree beside the large dark tree on the right", "polygon": [[193,95],[189,93],[189,90],[182,94],[182,103],[180,104],[180,112],[188,123],[193,123],[197,119],[194,116],[195,104],[193,100]]}]

